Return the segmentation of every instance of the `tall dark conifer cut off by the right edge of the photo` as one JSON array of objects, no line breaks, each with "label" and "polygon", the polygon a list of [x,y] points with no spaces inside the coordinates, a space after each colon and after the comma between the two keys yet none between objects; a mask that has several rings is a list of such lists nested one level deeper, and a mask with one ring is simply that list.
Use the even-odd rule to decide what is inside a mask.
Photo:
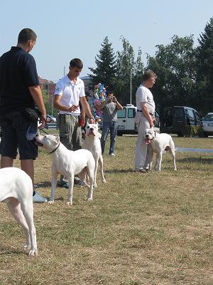
[{"label": "tall dark conifer cut off by the right edge of the photo", "polygon": [[213,105],[213,18],[204,28],[198,38],[197,57],[197,105],[202,113],[209,111]]}]

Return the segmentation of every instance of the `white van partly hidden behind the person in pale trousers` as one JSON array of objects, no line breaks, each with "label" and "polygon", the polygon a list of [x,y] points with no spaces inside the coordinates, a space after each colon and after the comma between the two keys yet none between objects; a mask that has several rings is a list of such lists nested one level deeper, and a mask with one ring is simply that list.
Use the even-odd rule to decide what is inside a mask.
[{"label": "white van partly hidden behind the person in pale trousers", "polygon": [[[123,107],[123,110],[118,110],[118,130],[117,135],[124,134],[137,134],[138,130],[135,123],[135,116],[137,108],[134,105],[127,104]],[[159,127],[159,115],[155,112],[156,123],[155,127]],[[157,130],[158,131],[158,130]]]}]

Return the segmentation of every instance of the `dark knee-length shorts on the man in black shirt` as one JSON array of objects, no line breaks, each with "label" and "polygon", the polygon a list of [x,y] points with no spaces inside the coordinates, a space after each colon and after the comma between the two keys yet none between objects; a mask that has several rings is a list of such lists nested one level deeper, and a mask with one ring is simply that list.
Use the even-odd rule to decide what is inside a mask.
[{"label": "dark knee-length shorts on the man in black shirt", "polygon": [[[19,152],[20,160],[35,160],[38,157],[38,146],[34,140],[27,140],[30,126],[37,128],[37,123],[28,122],[20,112],[12,112],[0,122],[2,156],[16,158]],[[17,152],[18,149],[18,152]]]}]

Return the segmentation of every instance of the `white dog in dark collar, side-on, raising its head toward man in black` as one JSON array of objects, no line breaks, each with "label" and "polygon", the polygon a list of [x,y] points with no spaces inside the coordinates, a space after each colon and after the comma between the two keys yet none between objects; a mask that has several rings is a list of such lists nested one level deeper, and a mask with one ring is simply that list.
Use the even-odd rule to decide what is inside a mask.
[{"label": "white dog in dark collar, side-on, raising its head toward man in black", "polygon": [[[60,143],[59,137],[55,137],[54,135],[37,135],[35,140],[38,145],[44,147],[45,150],[48,150],[53,158],[51,196],[49,204],[54,203],[58,173],[67,177],[69,181],[67,204],[72,205],[72,192],[75,175],[78,175],[80,180],[84,181],[85,185],[87,185],[87,201],[92,201],[95,165],[92,153],[89,150],[67,150],[67,147]],[[89,177],[89,185],[85,179],[86,175]]]}]

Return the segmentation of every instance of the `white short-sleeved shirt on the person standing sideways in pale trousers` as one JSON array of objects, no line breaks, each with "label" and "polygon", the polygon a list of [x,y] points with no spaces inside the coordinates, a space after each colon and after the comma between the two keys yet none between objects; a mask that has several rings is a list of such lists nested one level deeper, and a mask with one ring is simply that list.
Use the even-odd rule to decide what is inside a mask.
[{"label": "white short-sleeved shirt on the person standing sideways in pale trousers", "polygon": [[141,84],[136,92],[136,107],[141,110],[141,103],[146,103],[149,113],[155,112],[155,102],[153,100],[153,94],[151,90]]}]

